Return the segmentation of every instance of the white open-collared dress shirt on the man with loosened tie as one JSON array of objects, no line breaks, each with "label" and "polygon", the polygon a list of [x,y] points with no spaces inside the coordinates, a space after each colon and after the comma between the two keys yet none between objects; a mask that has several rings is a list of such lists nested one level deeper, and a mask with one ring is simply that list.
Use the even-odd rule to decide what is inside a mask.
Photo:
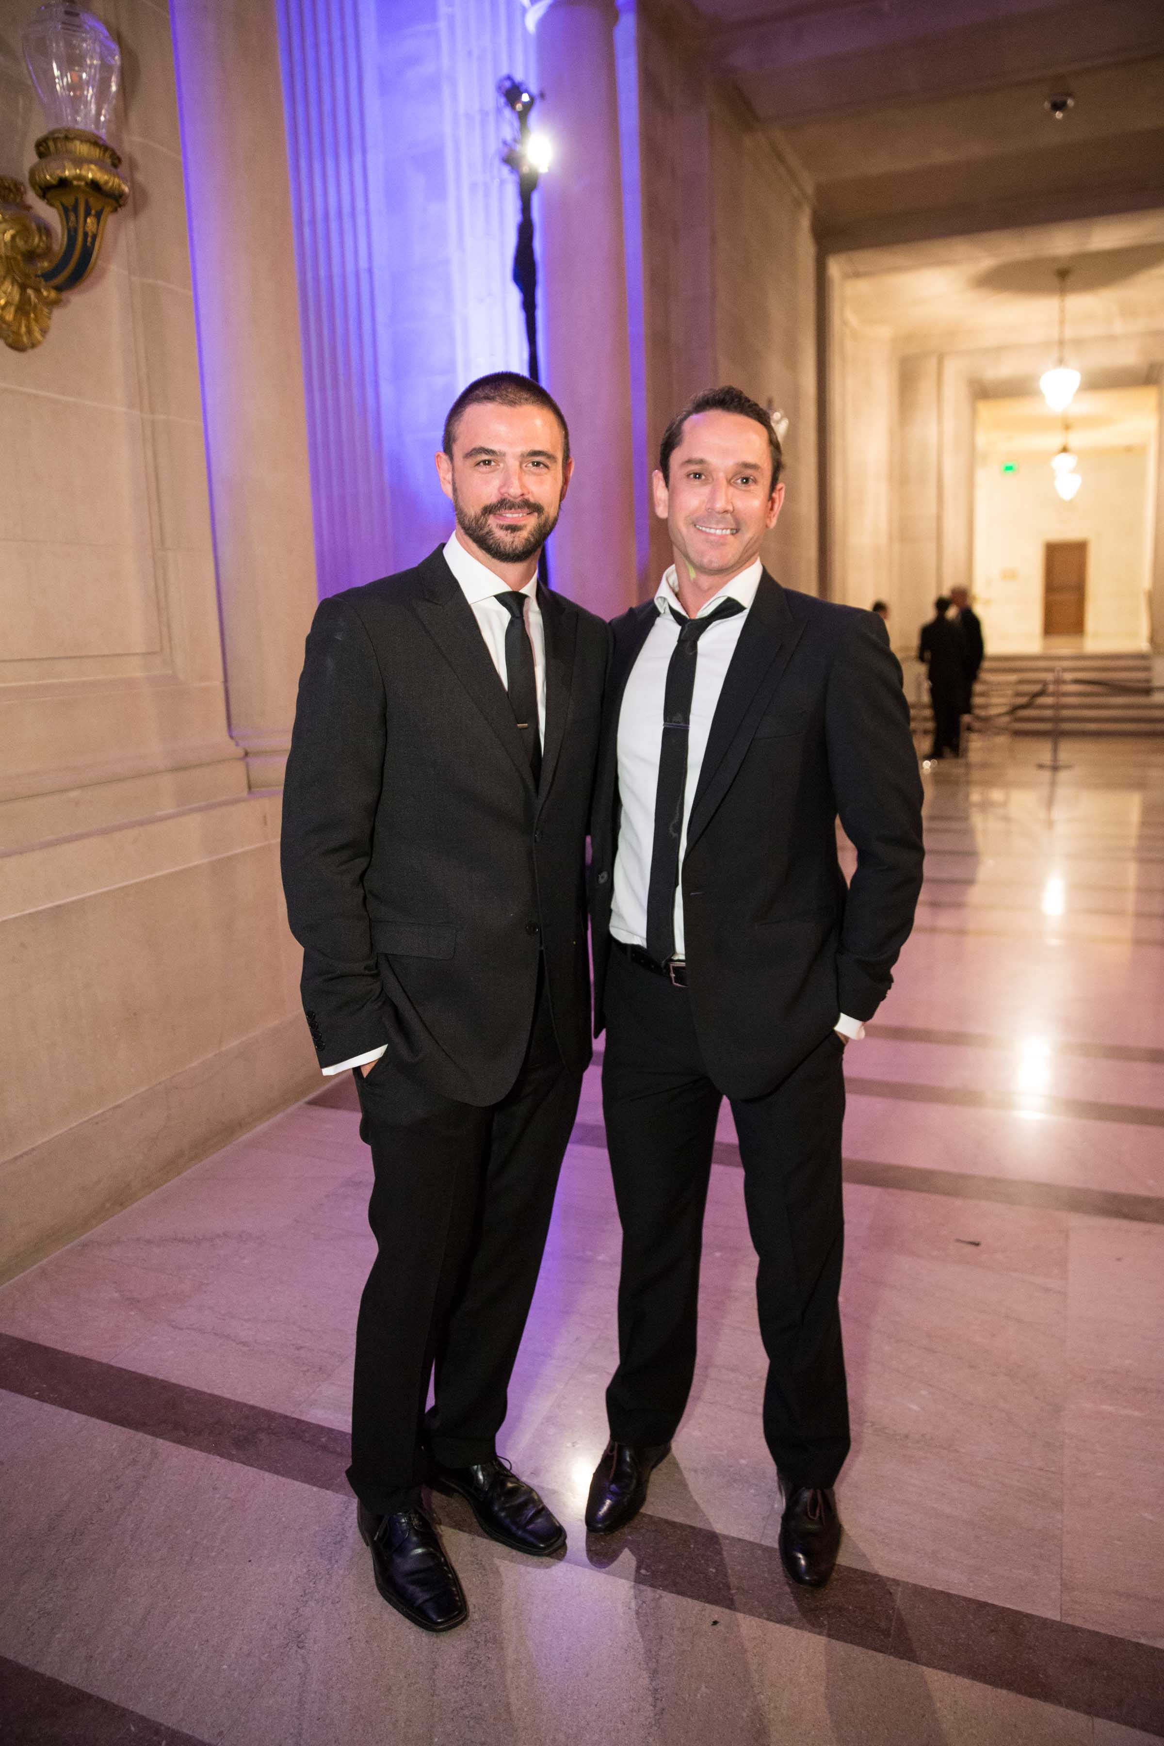
[{"label": "white open-collared dress shirt on the man with loosened tie", "polygon": [[[688,821],[691,801],[700,786],[700,770],[707,753],[707,737],[719,704],[731,656],[747,622],[763,564],[759,559],[724,583],[719,594],[705,601],[696,618],[707,618],[724,601],[738,601],[743,608],[731,618],[710,625],[700,637],[695,663],[695,690],[691,693],[691,725],[688,728],[688,779],[682,794],[682,831],[679,836],[679,866],[688,852]],[[618,718],[618,793],[621,819],[618,852],[614,856],[614,894],[611,899],[611,934],[627,946],[647,943],[647,892],[651,885],[651,854],[654,850],[654,798],[658,791],[660,753],[663,747],[663,698],[667,669],[679,643],[679,629],[686,623],[675,571],[667,571],[654,595],[658,618],[639,650],[639,658],[627,679],[623,707]],[[675,889],[675,957],[684,953],[682,885]],[[843,1037],[864,1037],[864,1025],[841,1013],[836,1030]]]}]

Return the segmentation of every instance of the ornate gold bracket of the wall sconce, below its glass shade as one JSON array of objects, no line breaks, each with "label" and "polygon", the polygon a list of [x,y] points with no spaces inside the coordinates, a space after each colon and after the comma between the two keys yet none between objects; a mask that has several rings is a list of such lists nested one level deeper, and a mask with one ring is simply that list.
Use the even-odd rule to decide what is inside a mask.
[{"label": "ornate gold bracket of the wall sconce, below its glass shade", "polygon": [[14,351],[38,346],[61,293],[92,272],[105,220],[129,199],[119,166],[113,147],[84,127],[37,140],[28,180],[59,213],[59,239],[28,206],[24,183],[0,176],[0,339]]}]

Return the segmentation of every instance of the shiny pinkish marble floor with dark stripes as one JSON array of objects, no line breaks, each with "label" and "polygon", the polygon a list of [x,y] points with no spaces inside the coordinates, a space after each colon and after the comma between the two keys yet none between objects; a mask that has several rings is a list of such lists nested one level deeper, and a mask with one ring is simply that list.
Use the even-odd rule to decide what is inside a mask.
[{"label": "shiny pinkish marble floor with dark stripes", "polygon": [[569,1547],[522,1559],[438,1500],[469,1624],[382,1605],[342,1477],[370,1166],[333,1084],[0,1292],[0,1739],[1164,1737],[1164,742],[1065,754],[925,777],[918,927],[846,1056],[829,1591],[775,1552],[729,1116],[691,1407],[644,1516],[586,1540],[618,1269],[595,1065],[501,1440]]}]

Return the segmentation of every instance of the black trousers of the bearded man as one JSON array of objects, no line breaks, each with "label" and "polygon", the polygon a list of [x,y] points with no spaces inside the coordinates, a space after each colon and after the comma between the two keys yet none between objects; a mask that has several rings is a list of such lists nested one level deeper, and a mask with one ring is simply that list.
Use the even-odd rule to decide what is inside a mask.
[{"label": "black trousers of the bearded man", "polygon": [[448,1467],[496,1453],[581,1091],[539,983],[525,1060],[499,1103],[443,1098],[387,1055],[356,1072],[379,1254],[356,1323],[347,1479],[377,1516],[417,1502],[424,1442]]}]

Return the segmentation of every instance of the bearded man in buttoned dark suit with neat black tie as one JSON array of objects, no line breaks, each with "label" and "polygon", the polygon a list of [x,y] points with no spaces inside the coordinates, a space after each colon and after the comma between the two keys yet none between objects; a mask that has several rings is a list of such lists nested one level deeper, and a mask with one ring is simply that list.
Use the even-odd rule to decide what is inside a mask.
[{"label": "bearded man in buttoned dark suit with neat black tie", "polygon": [[473,382],[436,466],[448,543],[316,613],[283,805],[307,1023],[356,1074],[375,1172],[347,1477],[380,1594],[428,1631],[466,1603],[422,1482],[520,1552],[565,1542],[496,1435],[590,1060],[611,641],[537,585],[572,470],[550,395]]}]

